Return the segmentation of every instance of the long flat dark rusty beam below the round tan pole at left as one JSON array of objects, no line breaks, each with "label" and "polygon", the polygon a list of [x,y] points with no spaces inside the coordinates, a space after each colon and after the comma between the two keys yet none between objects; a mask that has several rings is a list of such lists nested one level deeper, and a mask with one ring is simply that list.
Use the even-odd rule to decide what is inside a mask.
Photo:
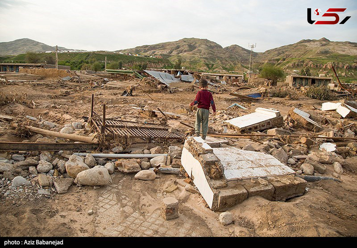
[{"label": "long flat dark rusty beam below the round tan pole at left", "polygon": [[0,142],[0,150],[7,151],[90,151],[98,147],[92,143]]}]

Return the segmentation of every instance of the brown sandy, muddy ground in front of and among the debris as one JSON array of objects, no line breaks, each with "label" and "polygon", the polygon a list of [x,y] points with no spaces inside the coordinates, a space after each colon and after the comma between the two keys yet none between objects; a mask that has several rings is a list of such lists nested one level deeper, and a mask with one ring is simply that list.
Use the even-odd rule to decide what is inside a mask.
[{"label": "brown sandy, muddy ground in front of and among the debris", "polygon": [[[196,92],[188,90],[189,84],[180,86],[173,94],[155,93],[154,88],[142,86],[146,92],[151,92],[154,100],[140,89],[134,92],[133,97],[120,96],[127,86],[136,83],[119,82],[117,89],[91,89],[88,83],[14,82],[1,85],[1,91],[26,93],[27,100],[36,103],[36,109],[8,104],[0,107],[0,114],[12,117],[42,115],[46,120],[65,124],[68,121],[63,118],[64,114],[70,115],[71,121],[89,115],[91,94],[95,93],[95,110],[101,113],[100,104],[106,103],[107,116],[125,115],[140,119],[137,110],[129,105],[137,104],[181,114],[181,121],[193,125],[193,115],[186,109]],[[62,96],[67,90],[70,93]],[[234,103],[228,93],[213,96],[217,110]],[[321,101],[304,97],[293,101],[274,98],[240,104],[248,108],[247,113],[256,107],[272,107],[279,109],[282,115],[292,106],[303,109],[311,109],[312,105],[321,107]],[[244,113],[235,111],[236,116]],[[211,116],[210,123],[220,132],[216,118]],[[174,120],[169,125],[186,130]],[[0,135],[15,134],[9,123],[0,122],[0,126]],[[155,145],[136,144],[133,147],[150,148]],[[161,145],[166,147],[169,143]],[[0,198],[0,236],[356,236],[356,168],[357,163],[344,168],[341,183],[331,180],[308,182],[305,195],[286,202],[271,202],[256,196],[248,198],[229,210],[235,222],[227,226],[218,222],[220,212],[206,208],[200,194],[184,190],[184,177],[160,174],[159,179],[140,181],[134,180],[134,175],[116,171],[111,175],[112,183],[99,189],[72,186],[69,192],[56,194],[53,198],[23,199],[15,204]],[[165,188],[172,184],[177,185],[177,189],[165,193]],[[161,199],[167,196],[180,201],[180,216],[170,221],[164,221],[160,213]],[[87,215],[88,210],[93,210],[94,214]]]}]

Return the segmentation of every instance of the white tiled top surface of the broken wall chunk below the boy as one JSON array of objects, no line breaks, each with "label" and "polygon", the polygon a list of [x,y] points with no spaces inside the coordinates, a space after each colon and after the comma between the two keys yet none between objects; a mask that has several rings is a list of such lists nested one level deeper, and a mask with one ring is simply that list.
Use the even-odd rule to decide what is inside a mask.
[{"label": "white tiled top surface of the broken wall chunk below the boy", "polygon": [[290,167],[269,154],[234,147],[212,149],[221,160],[224,175],[228,181],[295,173]]}]

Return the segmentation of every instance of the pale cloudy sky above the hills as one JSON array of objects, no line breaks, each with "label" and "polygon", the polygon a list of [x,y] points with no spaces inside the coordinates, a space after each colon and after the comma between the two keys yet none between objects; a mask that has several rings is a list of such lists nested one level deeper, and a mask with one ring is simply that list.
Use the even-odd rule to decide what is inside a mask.
[{"label": "pale cloudy sky above the hills", "polygon": [[[307,8],[347,8],[345,24],[311,25]],[[313,20],[334,20],[316,16]],[[0,42],[30,38],[50,46],[115,51],[206,38],[256,52],[302,39],[357,42],[357,1],[0,0]]]}]

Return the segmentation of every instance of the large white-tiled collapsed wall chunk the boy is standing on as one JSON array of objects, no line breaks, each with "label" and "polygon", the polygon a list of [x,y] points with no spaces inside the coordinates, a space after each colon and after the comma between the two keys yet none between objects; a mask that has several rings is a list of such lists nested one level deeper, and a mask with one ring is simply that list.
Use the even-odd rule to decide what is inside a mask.
[{"label": "large white-tiled collapsed wall chunk the boy is standing on", "polygon": [[306,181],[269,154],[227,146],[227,141],[188,137],[181,164],[214,211],[225,211],[251,196],[271,201],[303,195]]}]

